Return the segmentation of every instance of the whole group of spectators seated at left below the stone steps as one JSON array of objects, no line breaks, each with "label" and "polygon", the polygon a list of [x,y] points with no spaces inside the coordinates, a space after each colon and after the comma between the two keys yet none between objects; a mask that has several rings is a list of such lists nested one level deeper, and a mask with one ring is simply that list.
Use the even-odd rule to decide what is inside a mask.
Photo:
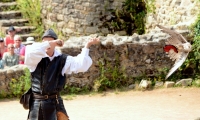
[{"label": "whole group of spectators seated at left below the stone steps", "polygon": [[5,38],[0,37],[0,69],[5,69],[18,64],[24,64],[25,49],[27,45],[35,42],[34,37],[28,37],[25,43],[17,35],[20,29],[10,26]]}]

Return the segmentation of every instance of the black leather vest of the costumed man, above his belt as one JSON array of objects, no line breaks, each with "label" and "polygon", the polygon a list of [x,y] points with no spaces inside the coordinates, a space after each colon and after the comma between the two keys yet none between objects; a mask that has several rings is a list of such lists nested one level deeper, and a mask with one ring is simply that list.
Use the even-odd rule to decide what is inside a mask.
[{"label": "black leather vest of the costumed man, above his belt", "polygon": [[34,93],[52,95],[60,92],[66,83],[66,76],[62,75],[67,55],[42,58],[34,72],[31,73],[31,88]]}]

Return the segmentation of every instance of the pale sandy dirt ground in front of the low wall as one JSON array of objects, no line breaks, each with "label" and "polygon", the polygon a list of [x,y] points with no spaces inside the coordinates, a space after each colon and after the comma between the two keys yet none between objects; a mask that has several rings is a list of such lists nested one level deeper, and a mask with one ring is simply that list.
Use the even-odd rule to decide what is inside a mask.
[{"label": "pale sandy dirt ground in front of the low wall", "polygon": [[[64,105],[70,120],[197,120],[200,88],[79,95]],[[18,100],[0,101],[0,120],[26,120],[27,114]]]}]

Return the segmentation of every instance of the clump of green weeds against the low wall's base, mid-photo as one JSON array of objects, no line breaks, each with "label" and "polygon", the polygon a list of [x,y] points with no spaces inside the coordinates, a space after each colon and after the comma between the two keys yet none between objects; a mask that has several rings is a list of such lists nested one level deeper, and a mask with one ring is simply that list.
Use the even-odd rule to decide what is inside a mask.
[{"label": "clump of green weeds against the low wall's base, mid-photo", "polygon": [[[106,56],[104,56],[106,58]],[[105,63],[104,63],[105,62]],[[100,76],[94,81],[94,91],[117,89],[127,84],[125,70],[120,68],[119,55],[116,53],[113,64],[99,60]]]}]

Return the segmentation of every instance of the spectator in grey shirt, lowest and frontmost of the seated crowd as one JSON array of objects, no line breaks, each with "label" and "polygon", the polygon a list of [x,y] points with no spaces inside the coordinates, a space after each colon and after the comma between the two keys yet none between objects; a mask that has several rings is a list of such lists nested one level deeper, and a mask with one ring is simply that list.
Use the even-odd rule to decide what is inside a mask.
[{"label": "spectator in grey shirt, lowest and frontmost of the seated crowd", "polygon": [[14,65],[18,65],[19,56],[14,52],[14,45],[8,44],[7,51],[3,54],[2,62],[4,68],[12,67]]}]

